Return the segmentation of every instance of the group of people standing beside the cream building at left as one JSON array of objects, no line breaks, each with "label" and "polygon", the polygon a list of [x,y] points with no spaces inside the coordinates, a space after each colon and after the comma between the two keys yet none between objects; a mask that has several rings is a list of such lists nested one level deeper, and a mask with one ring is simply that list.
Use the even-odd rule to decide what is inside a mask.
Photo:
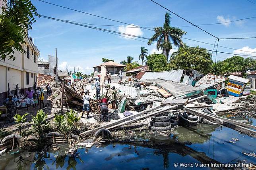
[{"label": "group of people standing beside the cream building at left", "polygon": [[[47,84],[47,95],[50,96],[51,88],[50,85]],[[45,108],[45,92],[43,88],[37,87],[33,90],[31,88],[28,88],[25,92],[25,101],[26,101],[26,111],[28,111],[29,106],[33,106],[33,109],[35,109],[35,106],[39,105],[39,109],[41,109],[41,104],[43,104],[43,108]],[[17,102],[21,101],[21,99],[17,99],[14,97],[13,94],[9,94],[8,98],[4,100],[4,105],[7,108],[7,117],[10,120],[10,122],[14,121],[14,115],[17,113]]]}]

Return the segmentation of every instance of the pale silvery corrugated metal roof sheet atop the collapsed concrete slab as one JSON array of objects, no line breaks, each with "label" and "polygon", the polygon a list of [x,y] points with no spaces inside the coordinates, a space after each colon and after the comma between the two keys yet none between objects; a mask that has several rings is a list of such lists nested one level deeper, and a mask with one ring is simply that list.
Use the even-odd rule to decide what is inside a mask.
[{"label": "pale silvery corrugated metal roof sheet atop the collapsed concrete slab", "polygon": [[[144,73],[142,75],[142,73]],[[183,74],[183,69],[180,70],[171,70],[171,71],[160,71],[160,72],[144,72],[141,71],[136,78],[140,80],[149,80],[161,78],[164,80],[171,80],[173,82],[180,82],[180,79]]]}]

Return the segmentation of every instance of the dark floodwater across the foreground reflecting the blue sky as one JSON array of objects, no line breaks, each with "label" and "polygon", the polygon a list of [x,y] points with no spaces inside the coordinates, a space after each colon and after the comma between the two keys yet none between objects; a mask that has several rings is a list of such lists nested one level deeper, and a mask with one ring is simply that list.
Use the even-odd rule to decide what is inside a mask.
[{"label": "dark floodwater across the foreground reflecting the blue sky", "polygon": [[[248,122],[255,124],[255,119]],[[147,132],[146,132],[147,133]],[[0,157],[0,170],[14,169],[122,169],[155,170],[173,169],[177,163],[236,163],[242,160],[256,164],[256,158],[241,152],[256,152],[256,139],[221,126],[198,124],[196,127],[179,127],[171,136],[145,135],[144,139],[129,144],[106,143],[102,147],[79,149],[74,156],[65,155],[66,146],[45,154],[7,153]],[[239,141],[229,143],[232,138]],[[177,169],[184,169],[178,165]],[[214,169],[209,167],[196,169]],[[216,168],[218,169],[218,168]]]}]

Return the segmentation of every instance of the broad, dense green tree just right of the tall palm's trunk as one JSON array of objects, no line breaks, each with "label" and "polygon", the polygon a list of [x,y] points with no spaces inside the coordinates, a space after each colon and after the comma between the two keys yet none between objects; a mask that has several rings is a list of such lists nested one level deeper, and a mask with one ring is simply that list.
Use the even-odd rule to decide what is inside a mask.
[{"label": "broad, dense green tree just right of the tall palm's trunk", "polygon": [[169,67],[173,70],[195,69],[208,74],[212,70],[212,64],[211,54],[205,48],[183,46],[171,55]]}]

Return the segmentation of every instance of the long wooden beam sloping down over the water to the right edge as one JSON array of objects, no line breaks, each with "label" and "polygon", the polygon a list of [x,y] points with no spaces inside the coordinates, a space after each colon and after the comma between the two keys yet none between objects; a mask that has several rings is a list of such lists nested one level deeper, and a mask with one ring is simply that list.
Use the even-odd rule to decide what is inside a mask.
[{"label": "long wooden beam sloping down over the water to the right edge", "polygon": [[[190,108],[186,108],[186,107],[184,107],[183,110],[187,111],[188,113],[192,113],[193,115],[198,115],[200,117],[206,118],[206,119],[208,119],[212,122],[215,122],[217,124],[222,124],[222,125],[227,126],[231,129],[242,132],[243,134],[247,134],[249,136],[256,137],[256,131],[245,128],[245,127],[242,127],[242,126],[239,126],[240,124],[244,124],[242,122],[239,122],[239,125],[238,125],[237,121],[235,121],[235,120],[232,120],[234,122],[231,122],[230,119],[222,120],[221,117],[217,117],[217,116],[214,116],[214,115],[209,115],[209,114],[206,114],[206,113],[203,113],[203,112],[200,112],[200,111],[196,111],[196,110],[193,110],[193,109],[190,109]],[[224,119],[226,119],[226,118],[224,118]],[[234,124],[234,123],[237,123],[237,124]],[[248,127],[248,125],[249,124],[246,124],[244,126]],[[250,126],[253,126],[253,125],[250,125]],[[254,128],[255,128],[255,126],[254,126]]]}]

